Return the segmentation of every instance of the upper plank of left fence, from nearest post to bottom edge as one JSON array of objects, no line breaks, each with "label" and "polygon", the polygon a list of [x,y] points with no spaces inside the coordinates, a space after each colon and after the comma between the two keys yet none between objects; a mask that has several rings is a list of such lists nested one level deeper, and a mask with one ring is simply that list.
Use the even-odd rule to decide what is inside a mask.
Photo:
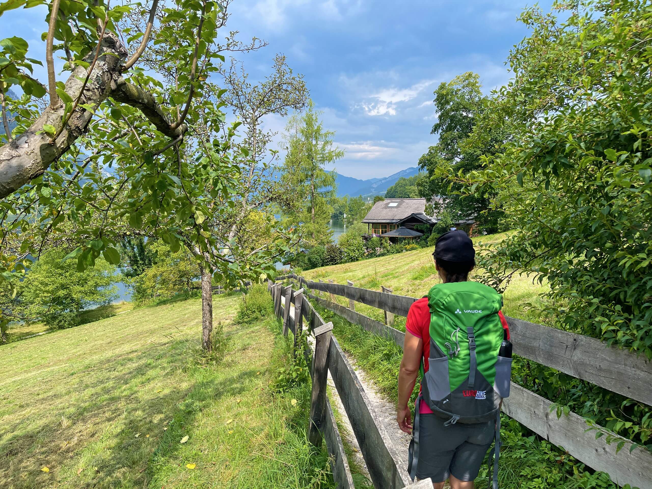
[{"label": "upper plank of left fence, from nearest post to bottom edge", "polygon": [[374,487],[402,488],[410,484],[408,473],[396,465],[398,456],[394,445],[391,441],[385,444],[389,437],[383,438],[384,428],[378,415],[371,408],[371,401],[334,336],[331,338],[329,368]]}]

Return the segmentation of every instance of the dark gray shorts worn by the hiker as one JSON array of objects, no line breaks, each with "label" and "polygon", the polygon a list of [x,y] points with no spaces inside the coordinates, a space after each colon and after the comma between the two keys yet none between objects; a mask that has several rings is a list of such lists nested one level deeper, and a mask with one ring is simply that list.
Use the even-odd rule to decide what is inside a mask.
[{"label": "dark gray shorts worn by the hiker", "polygon": [[444,426],[445,422],[434,414],[419,415],[417,479],[443,482],[452,474],[460,481],[473,481],[494,441],[496,423]]}]

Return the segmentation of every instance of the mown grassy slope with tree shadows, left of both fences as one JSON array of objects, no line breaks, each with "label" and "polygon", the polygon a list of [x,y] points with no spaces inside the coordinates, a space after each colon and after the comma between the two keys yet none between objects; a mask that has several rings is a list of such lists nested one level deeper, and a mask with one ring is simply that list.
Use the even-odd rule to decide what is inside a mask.
[{"label": "mown grassy slope with tree shadows, left of both fences", "polygon": [[0,487],[303,488],[328,479],[323,452],[312,453],[301,431],[309,390],[267,389],[282,351],[276,319],[233,325],[238,301],[215,298],[228,338],[217,365],[197,351],[196,299],[1,346]]}]

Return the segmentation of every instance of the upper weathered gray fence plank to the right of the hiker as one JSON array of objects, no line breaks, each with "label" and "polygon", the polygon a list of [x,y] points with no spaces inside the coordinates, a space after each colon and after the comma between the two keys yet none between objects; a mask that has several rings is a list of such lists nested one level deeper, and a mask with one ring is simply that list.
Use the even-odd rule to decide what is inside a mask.
[{"label": "upper weathered gray fence plank to the right of the hiker", "polygon": [[516,355],[652,406],[652,362],[645,357],[521,319],[507,323]]}]

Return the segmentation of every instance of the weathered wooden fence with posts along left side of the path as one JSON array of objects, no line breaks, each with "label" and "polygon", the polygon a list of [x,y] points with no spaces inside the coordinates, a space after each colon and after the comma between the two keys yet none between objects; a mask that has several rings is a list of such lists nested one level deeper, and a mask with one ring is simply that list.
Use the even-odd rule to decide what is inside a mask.
[{"label": "weathered wooden fence with posts along left side of the path", "polygon": [[[327,396],[328,371],[340,394],[374,486],[383,489],[407,486],[411,489],[431,489],[430,479],[411,484],[408,473],[396,465],[394,447],[385,444],[381,436],[383,428],[376,412],[355,370],[331,334],[333,323],[325,323],[304,296],[303,289],[292,289],[292,286],[285,287],[273,282],[268,282],[267,288],[274,300],[274,314],[282,319],[283,333],[287,335],[291,331],[294,336],[293,355],[303,353],[310,365],[312,397],[308,439],[318,447],[321,446],[322,437],[325,440],[331,456],[333,479],[338,488],[355,489],[342,437]],[[304,329],[314,338],[314,353],[310,348],[303,352],[297,350],[297,333]]]}]

